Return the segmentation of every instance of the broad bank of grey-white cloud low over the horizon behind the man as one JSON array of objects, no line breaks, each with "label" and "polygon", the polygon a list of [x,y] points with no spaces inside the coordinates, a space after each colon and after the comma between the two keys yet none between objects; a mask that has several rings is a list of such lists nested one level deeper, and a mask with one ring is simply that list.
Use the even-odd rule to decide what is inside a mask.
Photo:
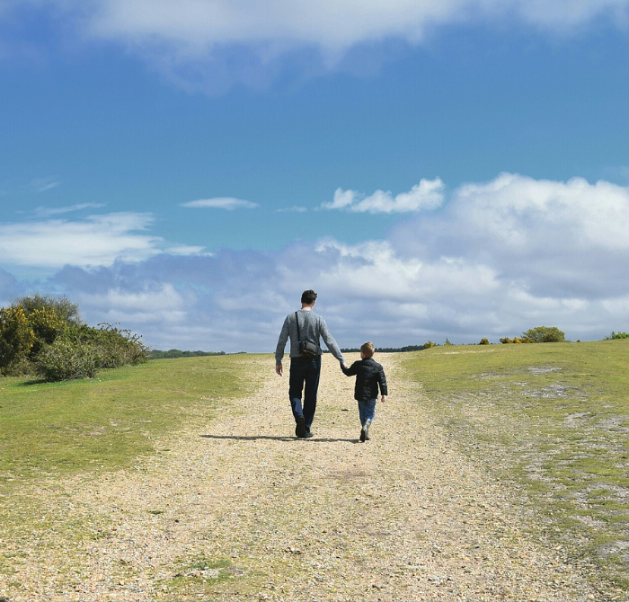
[{"label": "broad bank of grey-white cloud low over the horizon behind the man", "polygon": [[[102,217],[108,226],[95,239],[118,227],[122,242],[114,246],[124,250],[128,236],[144,236],[136,228],[147,220]],[[46,243],[53,225],[68,232],[65,222],[41,225]],[[317,309],[342,347],[498,341],[538,325],[591,340],[629,330],[628,226],[627,188],[503,173],[449,191],[441,208],[421,217],[403,214],[381,240],[206,255],[158,253],[141,238],[134,261],[91,267],[68,253],[68,265],[45,284],[79,302],[90,323],[120,322],[158,348],[270,352],[306,288],[319,293]],[[6,227],[0,252],[14,235]],[[3,284],[25,286],[0,270]]]}]

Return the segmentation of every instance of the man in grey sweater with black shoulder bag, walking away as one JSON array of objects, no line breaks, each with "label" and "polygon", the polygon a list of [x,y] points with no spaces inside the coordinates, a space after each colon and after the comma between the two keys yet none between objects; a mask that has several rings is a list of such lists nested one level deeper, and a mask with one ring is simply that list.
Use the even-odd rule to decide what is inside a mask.
[{"label": "man in grey sweater with black shoulder bag, walking away", "polygon": [[[305,290],[301,296],[301,310],[288,314],[279,333],[278,347],[275,350],[275,371],[282,376],[282,358],[288,339],[290,339],[290,378],[288,397],[293,410],[296,427],[295,435],[309,438],[316,410],[316,393],[319,388],[321,374],[321,346],[319,337],[323,338],[332,355],[345,365],[339,346],[332,338],[325,320],[313,311],[316,303],[314,290]],[[312,351],[302,353],[301,343],[312,343]],[[306,385],[306,389],[304,388]],[[302,393],[304,403],[302,405]]]}]

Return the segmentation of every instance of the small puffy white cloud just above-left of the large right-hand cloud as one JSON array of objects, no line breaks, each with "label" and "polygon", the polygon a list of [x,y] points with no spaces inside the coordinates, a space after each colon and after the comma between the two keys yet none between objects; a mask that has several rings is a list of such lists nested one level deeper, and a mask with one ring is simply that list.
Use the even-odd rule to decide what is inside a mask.
[{"label": "small puffy white cloud just above-left of the large right-hand cloud", "polygon": [[443,202],[444,183],[422,179],[408,192],[395,197],[389,191],[376,190],[365,197],[354,190],[337,189],[331,203],[323,203],[324,209],[344,209],[356,213],[410,213],[439,208]]}]

